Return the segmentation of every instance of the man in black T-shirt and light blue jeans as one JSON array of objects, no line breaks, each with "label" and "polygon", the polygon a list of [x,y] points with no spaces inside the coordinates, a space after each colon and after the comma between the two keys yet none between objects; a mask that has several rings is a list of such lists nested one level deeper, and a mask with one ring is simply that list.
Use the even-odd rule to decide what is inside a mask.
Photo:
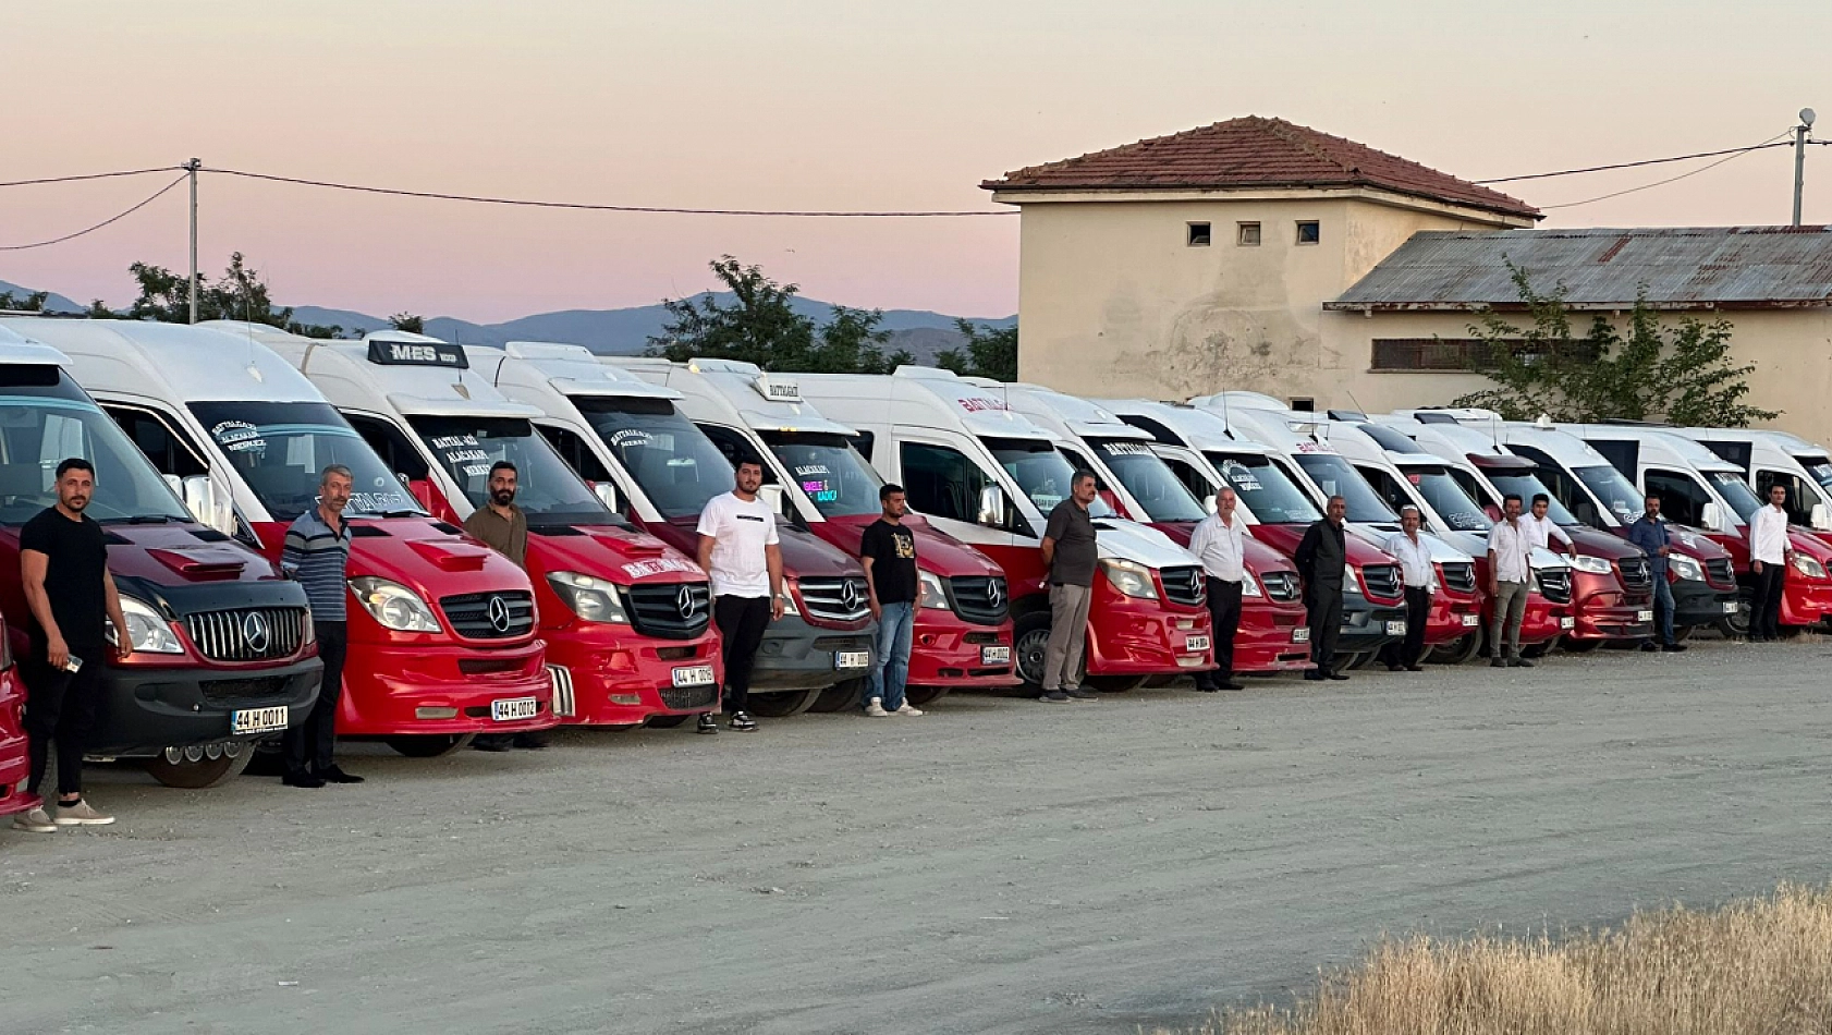
[{"label": "man in black T-shirt and light blue jeans", "polygon": [[859,562],[865,564],[865,588],[872,597],[872,617],[878,619],[878,658],[865,683],[865,714],[921,714],[921,709],[903,700],[903,685],[911,676],[911,639],[916,636],[916,537],[903,528],[909,502],[903,485],[879,485],[878,506],[883,517],[865,528],[859,537]]}]

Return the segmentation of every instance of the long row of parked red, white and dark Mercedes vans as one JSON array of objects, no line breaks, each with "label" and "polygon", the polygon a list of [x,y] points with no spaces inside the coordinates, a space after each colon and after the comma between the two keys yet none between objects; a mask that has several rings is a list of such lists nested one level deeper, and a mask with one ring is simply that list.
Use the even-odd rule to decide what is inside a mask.
[{"label": "long row of parked red, white and dark Mercedes vans", "polygon": [[[1576,557],[1539,551],[1522,643],[1583,650],[1652,632],[1641,491],[1680,526],[1678,625],[1748,616],[1751,489],[1788,487],[1799,528],[1783,617],[1832,610],[1832,460],[1777,432],[1515,425],[1478,410],[1310,414],[1227,392],[1090,401],[929,368],[779,376],[731,361],[599,357],[551,343],[462,346],[381,332],[317,341],[264,324],[0,317],[0,614],[22,648],[18,528],[66,456],[95,463],[136,650],[108,669],[95,753],[202,788],[302,718],[319,663],[304,594],[275,566],[317,473],[352,469],[350,661],[341,736],[442,755],[484,731],[680,725],[716,709],[707,500],[758,462],[782,517],[791,599],[753,711],[857,702],[874,636],[854,559],[878,487],[905,485],[920,539],[912,700],[1035,683],[1050,610],[1039,542],[1077,467],[1099,478],[1092,685],[1213,665],[1200,564],[1183,546],[1226,485],[1251,526],[1235,667],[1308,663],[1290,553],[1330,495],[1354,529],[1339,663],[1405,634],[1381,544],[1416,506],[1444,592],[1438,661],[1484,647],[1486,535],[1500,498],[1546,493]],[[526,570],[467,539],[489,465],[513,462]],[[22,691],[0,656],[0,812],[24,801]]]}]

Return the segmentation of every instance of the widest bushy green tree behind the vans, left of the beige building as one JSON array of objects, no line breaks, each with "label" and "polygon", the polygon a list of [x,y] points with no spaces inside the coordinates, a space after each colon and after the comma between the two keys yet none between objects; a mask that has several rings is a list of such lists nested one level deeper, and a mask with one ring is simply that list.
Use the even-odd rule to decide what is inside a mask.
[{"label": "widest bushy green tree behind the vans, left of the beige building", "polygon": [[687,359],[738,359],[764,370],[810,374],[889,374],[914,357],[898,350],[885,355],[890,332],[879,310],[835,306],[824,324],[795,310],[795,284],[771,280],[760,266],[744,266],[724,255],[713,275],[731,293],[667,299],[669,322],[649,339],[649,355],[676,363]]}]

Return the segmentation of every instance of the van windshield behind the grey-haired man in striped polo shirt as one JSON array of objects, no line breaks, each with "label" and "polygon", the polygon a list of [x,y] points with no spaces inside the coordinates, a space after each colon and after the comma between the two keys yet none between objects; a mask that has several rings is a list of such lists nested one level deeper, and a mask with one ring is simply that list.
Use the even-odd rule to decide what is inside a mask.
[{"label": "van windshield behind the grey-haired man in striped polo shirt", "polygon": [[191,403],[191,414],[273,520],[319,506],[319,476],[332,463],[354,482],[344,515],[427,513],[330,403]]}]

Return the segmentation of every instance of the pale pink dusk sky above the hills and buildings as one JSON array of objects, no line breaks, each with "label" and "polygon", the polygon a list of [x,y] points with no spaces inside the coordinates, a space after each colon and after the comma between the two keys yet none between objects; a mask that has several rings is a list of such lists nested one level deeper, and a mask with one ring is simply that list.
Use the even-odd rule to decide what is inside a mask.
[{"label": "pale pink dusk sky above the hills and buildings", "polygon": [[[1759,143],[1832,79],[1828,4],[1695,0],[335,0],[7,7],[0,180],[205,165],[540,200],[995,209],[1022,165],[1277,115],[1464,178]],[[1704,163],[1504,185],[1579,202]],[[1544,225],[1788,220],[1784,148],[1555,209]],[[0,245],[126,209],[170,176],[0,189]],[[500,321],[650,304],[733,253],[852,306],[1017,308],[1017,218],[586,214],[222,176],[202,264],[244,251],[286,304]],[[1832,222],[1832,147],[1806,220]],[[183,189],[0,280],[125,304],[185,266]]]}]

